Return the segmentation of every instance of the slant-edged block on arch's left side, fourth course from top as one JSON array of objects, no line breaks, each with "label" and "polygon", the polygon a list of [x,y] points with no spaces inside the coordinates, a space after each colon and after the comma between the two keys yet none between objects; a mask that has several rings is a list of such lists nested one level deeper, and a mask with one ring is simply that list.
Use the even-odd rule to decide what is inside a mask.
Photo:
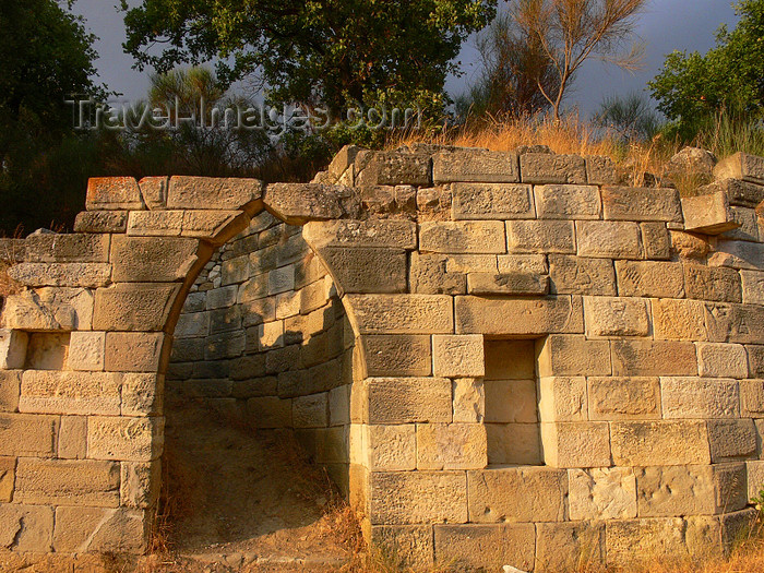
[{"label": "slant-edged block on arch's left side, fourth course from top", "polygon": [[180,285],[119,283],[95,293],[93,327],[98,331],[160,331]]}]

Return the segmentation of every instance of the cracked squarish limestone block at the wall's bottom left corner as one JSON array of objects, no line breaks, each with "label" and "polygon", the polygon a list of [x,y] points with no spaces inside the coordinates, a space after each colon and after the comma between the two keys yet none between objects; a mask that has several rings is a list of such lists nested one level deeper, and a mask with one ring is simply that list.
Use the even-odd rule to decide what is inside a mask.
[{"label": "cracked squarish limestone block at the wall's bottom left corner", "polygon": [[53,537],[53,509],[44,505],[0,504],[0,547],[47,553]]}]

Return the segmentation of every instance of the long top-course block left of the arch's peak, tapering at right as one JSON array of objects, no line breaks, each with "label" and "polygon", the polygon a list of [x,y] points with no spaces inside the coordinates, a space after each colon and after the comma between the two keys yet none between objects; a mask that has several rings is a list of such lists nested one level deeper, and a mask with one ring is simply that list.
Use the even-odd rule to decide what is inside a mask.
[{"label": "long top-course block left of the arch's peak, tapering at right", "polygon": [[258,179],[170,177],[167,208],[236,210],[262,199]]}]

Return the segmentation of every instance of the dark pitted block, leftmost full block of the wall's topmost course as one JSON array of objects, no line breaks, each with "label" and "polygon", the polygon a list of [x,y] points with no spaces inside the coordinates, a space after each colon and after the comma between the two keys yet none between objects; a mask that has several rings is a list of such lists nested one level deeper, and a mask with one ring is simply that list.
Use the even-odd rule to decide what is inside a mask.
[{"label": "dark pitted block, leftmost full block of the wall's topmost course", "polygon": [[357,187],[430,184],[429,155],[363,150],[354,165]]}]

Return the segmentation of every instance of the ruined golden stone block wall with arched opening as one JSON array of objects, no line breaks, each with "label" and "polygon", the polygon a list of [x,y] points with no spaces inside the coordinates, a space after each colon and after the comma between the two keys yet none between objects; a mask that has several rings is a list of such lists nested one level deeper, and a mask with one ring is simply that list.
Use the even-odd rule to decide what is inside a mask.
[{"label": "ruined golden stone block wall with arched opening", "polygon": [[[539,152],[346,147],[264,189],[93,180],[79,232],[31,236],[11,270],[0,540],[144,547],[167,373],[168,396],[262,425],[308,405],[367,538],[416,566],[727,550],[764,482],[764,159],[680,199]],[[341,356],[341,381],[311,370]]]}]

